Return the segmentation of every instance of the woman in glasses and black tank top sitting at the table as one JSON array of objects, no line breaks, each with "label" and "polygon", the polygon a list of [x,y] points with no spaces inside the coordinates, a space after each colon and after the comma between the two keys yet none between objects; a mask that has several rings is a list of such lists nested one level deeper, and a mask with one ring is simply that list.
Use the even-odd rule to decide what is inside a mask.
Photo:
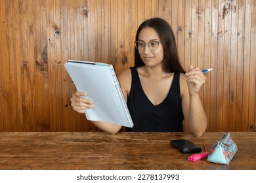
[{"label": "woman in glasses and black tank top sitting at the table", "polygon": [[[189,131],[200,137],[207,127],[207,117],[199,96],[205,76],[192,65],[185,73],[178,58],[171,26],[161,18],[143,22],[135,41],[135,67],[118,77],[134,126],[127,131],[183,131],[185,119]],[[74,110],[84,113],[93,101],[75,92]],[[117,133],[120,125],[93,122],[108,133]]]}]

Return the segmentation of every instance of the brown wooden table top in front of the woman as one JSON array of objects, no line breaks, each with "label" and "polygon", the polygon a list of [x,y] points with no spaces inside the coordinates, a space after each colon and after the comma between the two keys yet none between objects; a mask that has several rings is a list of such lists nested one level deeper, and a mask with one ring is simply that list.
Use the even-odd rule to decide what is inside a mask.
[{"label": "brown wooden table top in front of the woman", "polygon": [[[191,162],[171,139],[188,139],[207,149],[224,135],[205,133],[43,132],[0,133],[0,169],[256,169],[256,132],[231,132],[238,152],[229,165]],[[203,146],[202,146],[203,149]]]}]

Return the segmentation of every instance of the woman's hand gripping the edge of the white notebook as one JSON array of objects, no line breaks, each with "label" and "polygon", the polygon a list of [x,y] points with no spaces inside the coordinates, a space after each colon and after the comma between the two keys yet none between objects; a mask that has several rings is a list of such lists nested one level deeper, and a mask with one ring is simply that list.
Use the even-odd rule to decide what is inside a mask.
[{"label": "woman's hand gripping the edge of the white notebook", "polygon": [[88,108],[93,108],[93,101],[90,99],[85,99],[84,96],[87,96],[86,92],[75,92],[70,99],[73,109],[79,113],[85,113],[85,110]]}]

